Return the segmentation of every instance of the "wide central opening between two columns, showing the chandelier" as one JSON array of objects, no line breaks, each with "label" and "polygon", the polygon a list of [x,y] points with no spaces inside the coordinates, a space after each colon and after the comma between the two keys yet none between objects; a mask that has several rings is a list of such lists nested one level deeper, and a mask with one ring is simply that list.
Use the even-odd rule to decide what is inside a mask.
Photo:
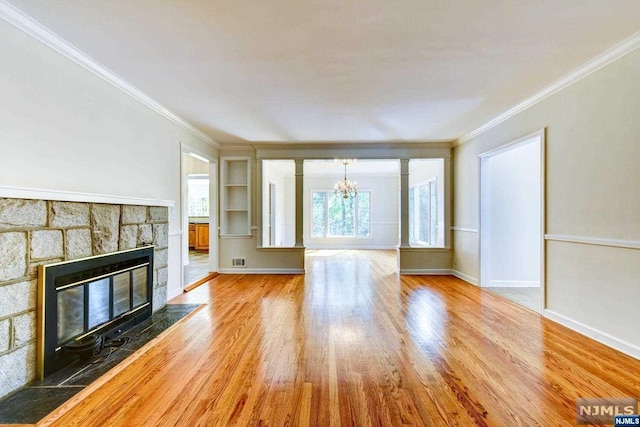
[{"label": "wide central opening between two columns, showing the chandelier", "polygon": [[[350,185],[352,190],[348,190]],[[398,160],[305,160],[303,187],[303,241],[308,250],[398,247]]]}]

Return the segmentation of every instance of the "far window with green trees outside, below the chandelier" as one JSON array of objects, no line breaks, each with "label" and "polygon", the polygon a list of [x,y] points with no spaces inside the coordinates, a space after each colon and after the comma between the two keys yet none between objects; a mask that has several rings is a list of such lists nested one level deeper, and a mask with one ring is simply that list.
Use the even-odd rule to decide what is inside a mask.
[{"label": "far window with green trees outside, below the chandelier", "polygon": [[371,192],[348,199],[333,191],[311,192],[311,237],[370,237]]}]

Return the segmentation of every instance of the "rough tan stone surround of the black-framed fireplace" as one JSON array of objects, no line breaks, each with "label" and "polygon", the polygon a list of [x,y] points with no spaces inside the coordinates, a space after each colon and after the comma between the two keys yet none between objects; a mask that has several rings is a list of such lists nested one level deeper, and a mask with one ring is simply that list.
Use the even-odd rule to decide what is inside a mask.
[{"label": "rough tan stone surround of the black-framed fireplace", "polygon": [[38,266],[150,244],[155,312],[167,301],[167,207],[0,198],[0,397],[36,375]]}]

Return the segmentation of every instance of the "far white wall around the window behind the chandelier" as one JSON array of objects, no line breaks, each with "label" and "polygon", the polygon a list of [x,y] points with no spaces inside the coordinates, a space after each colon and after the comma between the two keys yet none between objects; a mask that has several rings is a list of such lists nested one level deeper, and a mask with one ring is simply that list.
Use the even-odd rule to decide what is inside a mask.
[{"label": "far white wall around the window behind the chandelier", "polygon": [[399,243],[398,201],[399,175],[349,174],[350,181],[358,183],[358,191],[371,191],[371,237],[311,237],[311,192],[333,190],[342,174],[311,175],[304,177],[304,245],[314,248],[395,248]]}]

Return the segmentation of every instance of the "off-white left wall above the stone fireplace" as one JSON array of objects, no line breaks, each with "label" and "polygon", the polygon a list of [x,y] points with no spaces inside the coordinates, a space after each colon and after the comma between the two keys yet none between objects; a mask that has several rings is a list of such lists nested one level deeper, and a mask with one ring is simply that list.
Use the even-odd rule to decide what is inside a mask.
[{"label": "off-white left wall above the stone fireplace", "polygon": [[2,20],[0,58],[0,186],[175,201],[168,292],[179,292],[180,143],[216,151]]}]

